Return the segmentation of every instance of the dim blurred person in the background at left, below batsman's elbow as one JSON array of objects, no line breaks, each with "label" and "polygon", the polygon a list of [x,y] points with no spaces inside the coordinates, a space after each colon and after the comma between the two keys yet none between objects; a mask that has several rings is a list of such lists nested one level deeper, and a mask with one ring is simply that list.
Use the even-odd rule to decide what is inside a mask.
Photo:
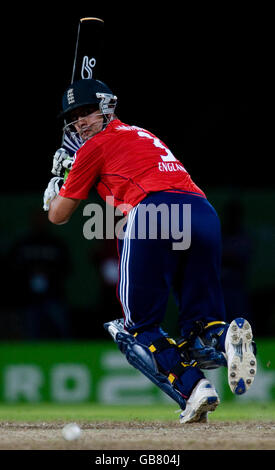
[{"label": "dim blurred person in the background at left, below batsman's elbow", "polygon": [[25,339],[69,338],[69,252],[51,233],[44,212],[31,213],[29,233],[12,246],[8,261],[10,302],[23,307]]}]

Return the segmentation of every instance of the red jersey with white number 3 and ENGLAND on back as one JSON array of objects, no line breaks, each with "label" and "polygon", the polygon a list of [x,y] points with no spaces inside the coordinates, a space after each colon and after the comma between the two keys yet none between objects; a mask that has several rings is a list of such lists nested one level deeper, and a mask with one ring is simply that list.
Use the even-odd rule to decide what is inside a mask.
[{"label": "red jersey with white number 3 and ENGLAND on back", "polygon": [[112,197],[114,206],[136,206],[148,194],[157,191],[180,191],[205,197],[183,164],[160,139],[118,119],[76,152],[59,194],[87,199],[93,186],[104,200]]}]

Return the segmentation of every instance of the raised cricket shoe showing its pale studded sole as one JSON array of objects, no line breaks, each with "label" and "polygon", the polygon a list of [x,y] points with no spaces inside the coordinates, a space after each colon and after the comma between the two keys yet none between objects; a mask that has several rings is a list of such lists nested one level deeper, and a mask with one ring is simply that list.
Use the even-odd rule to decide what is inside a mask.
[{"label": "raised cricket shoe showing its pale studded sole", "polygon": [[247,392],[256,375],[257,361],[252,338],[252,329],[247,320],[236,318],[230,323],[225,338],[225,352],[228,384],[236,395]]}]

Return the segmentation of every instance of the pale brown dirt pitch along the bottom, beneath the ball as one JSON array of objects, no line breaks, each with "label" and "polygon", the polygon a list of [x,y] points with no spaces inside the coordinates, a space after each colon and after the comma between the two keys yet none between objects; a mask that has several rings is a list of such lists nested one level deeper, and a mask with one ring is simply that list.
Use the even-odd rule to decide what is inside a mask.
[{"label": "pale brown dirt pitch along the bottom, beneath the ball", "polygon": [[274,450],[275,422],[240,421],[79,423],[78,440],[65,441],[65,423],[0,422],[0,450]]}]

